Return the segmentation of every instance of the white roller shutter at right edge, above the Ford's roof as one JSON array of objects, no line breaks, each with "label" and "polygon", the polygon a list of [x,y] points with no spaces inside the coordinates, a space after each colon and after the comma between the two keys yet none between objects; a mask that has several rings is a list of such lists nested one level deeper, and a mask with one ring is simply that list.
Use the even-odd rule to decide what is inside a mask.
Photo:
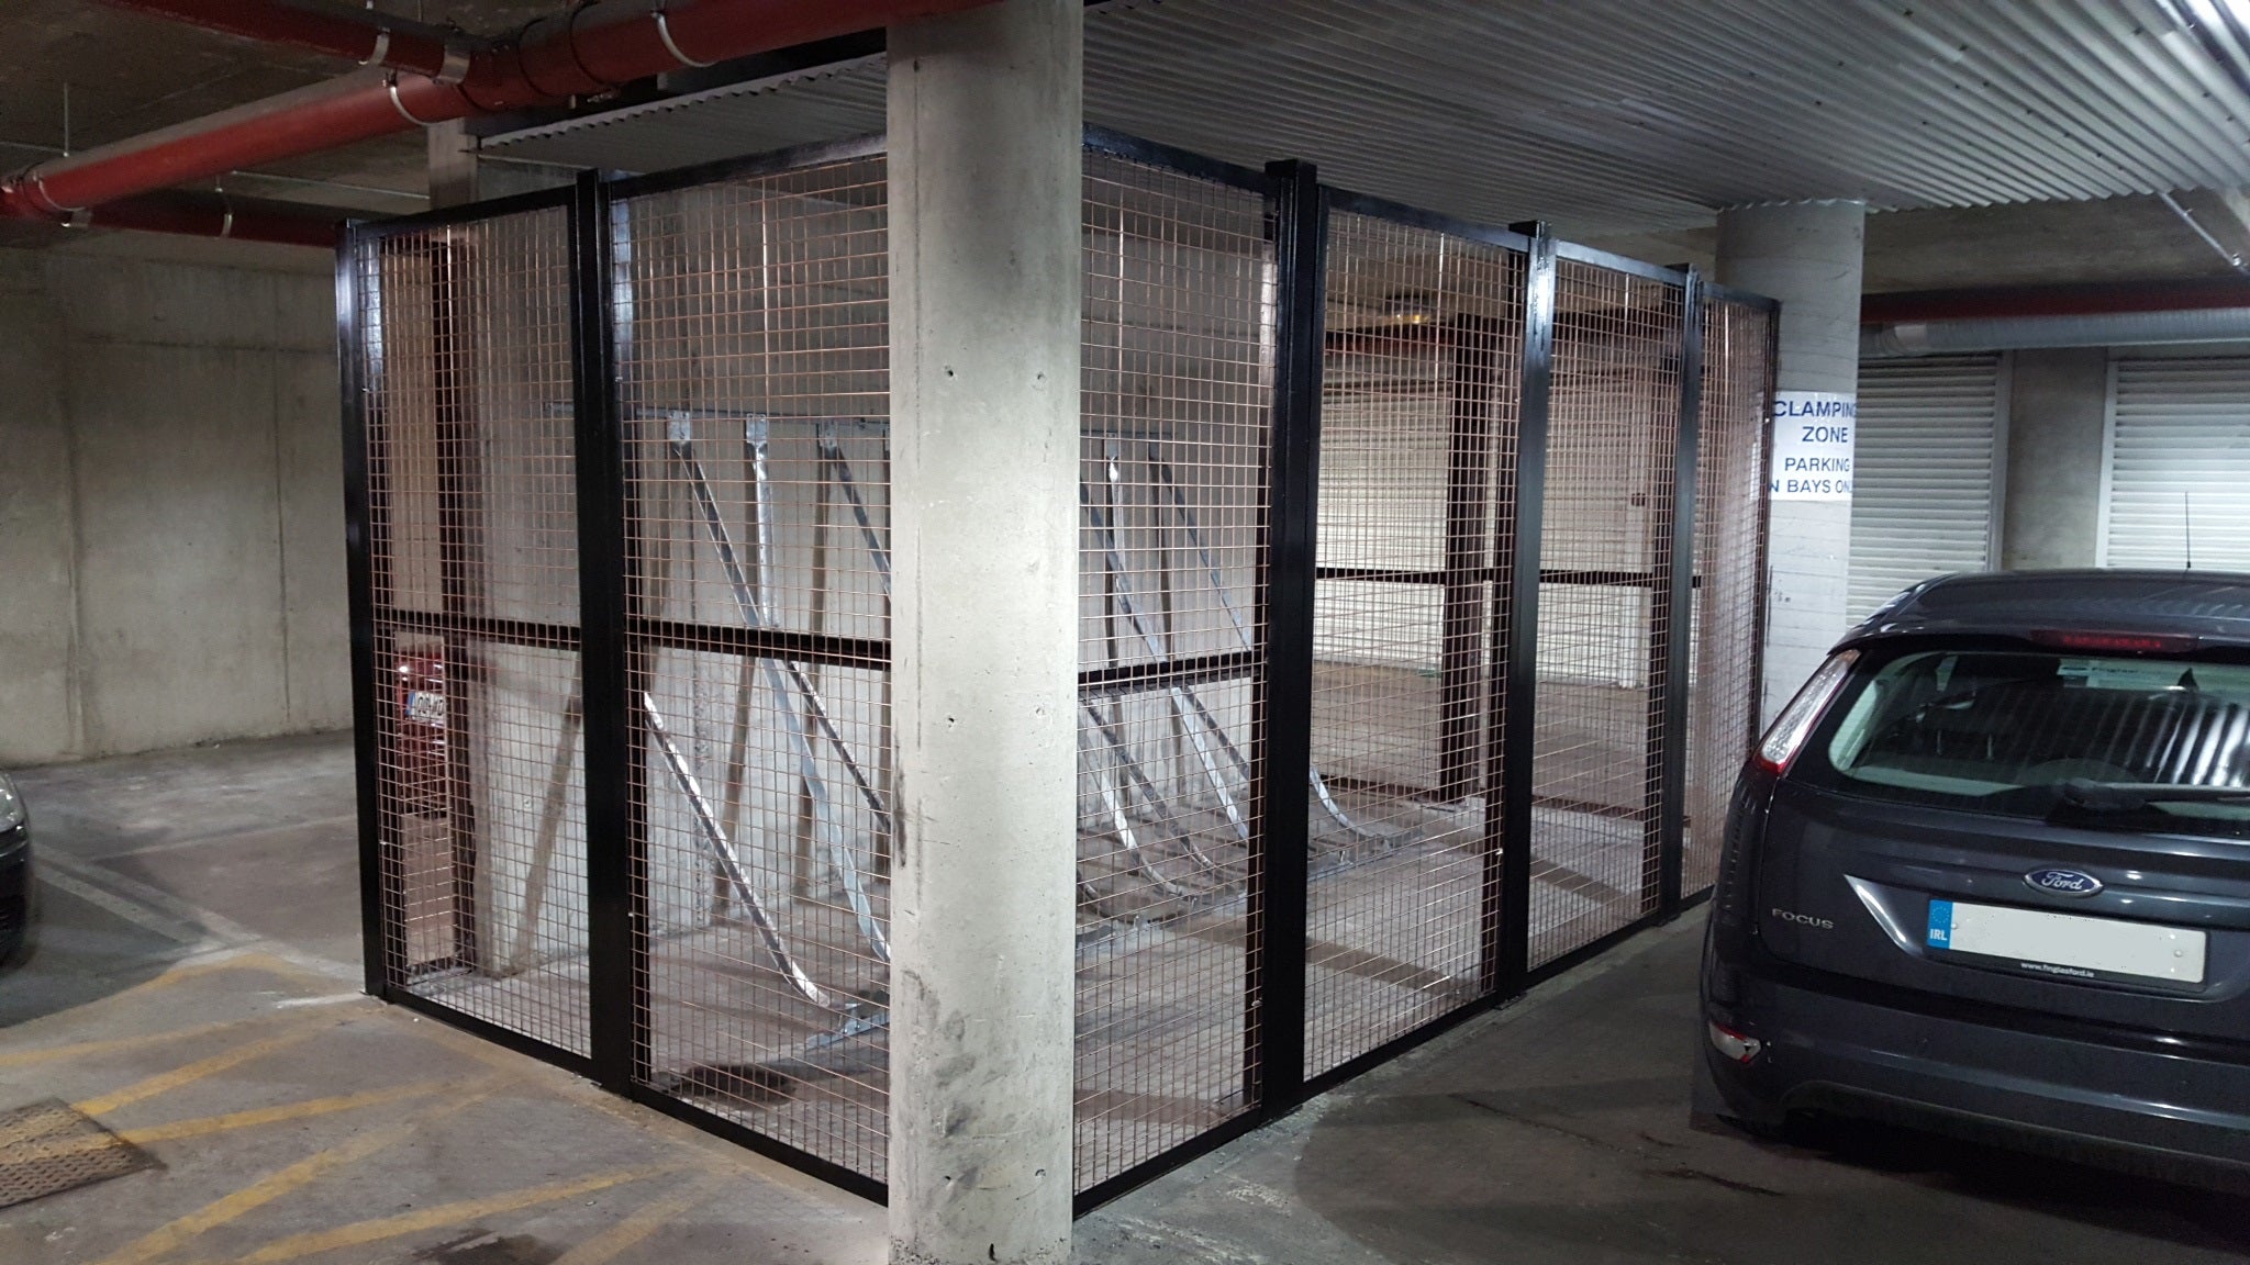
[{"label": "white roller shutter at right edge, above the Ford's roof", "polygon": [[2250,360],[2117,360],[2102,565],[2250,569]]}]

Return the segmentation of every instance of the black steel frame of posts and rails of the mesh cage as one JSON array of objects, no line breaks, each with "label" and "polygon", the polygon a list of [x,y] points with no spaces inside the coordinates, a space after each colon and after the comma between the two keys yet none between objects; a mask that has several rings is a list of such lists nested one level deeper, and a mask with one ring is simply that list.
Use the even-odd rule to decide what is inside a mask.
[{"label": "black steel frame of posts and rails of the mesh cage", "polygon": [[[1276,162],[1264,171],[1217,162],[1188,151],[1152,144],[1130,135],[1087,128],[1087,149],[1127,158],[1134,162],[1163,167],[1184,176],[1217,185],[1256,191],[1269,205],[1269,234],[1276,266],[1276,371],[1271,383],[1274,423],[1264,470],[1264,520],[1260,529],[1258,594],[1262,603],[1260,626],[1267,628],[1267,644],[1258,651],[1204,655],[1168,664],[1134,664],[1127,669],[1098,669],[1080,673],[1084,691],[1145,691],[1163,684],[1188,684],[1204,680],[1249,678],[1256,691],[1258,723],[1264,741],[1258,743],[1253,765],[1251,804],[1262,831],[1251,844],[1249,880],[1249,979],[1244,1042],[1246,1058],[1242,1089],[1246,1110],[1177,1146],[1148,1159],[1107,1182],[1082,1191],[1078,1211],[1094,1209],[1188,1159],[1204,1155],[1249,1130],[1280,1119],[1300,1107],[1312,1096],[1350,1080],[1485,1011],[1505,1006],[1534,984],[1550,979],[1573,966],[1598,957],[1618,941],[1694,907],[1708,891],[1681,891],[1681,849],[1685,813],[1685,729],[1688,729],[1688,673],[1690,637],[1688,610],[1701,576],[1694,574],[1694,520],[1696,520],[1696,468],[1699,468],[1699,421],[1701,421],[1701,365],[1706,304],[1744,304],[1778,311],[1771,299],[1728,290],[1706,281],[1694,270],[1654,268],[1649,263],[1613,257],[1606,252],[1557,243],[1546,225],[1523,223],[1512,227],[1490,227],[1456,221],[1433,212],[1422,212],[1384,198],[1370,198],[1321,185],[1318,173],[1307,162]],[[634,196],[686,189],[713,180],[756,176],[862,158],[882,151],[880,137],[860,137],[832,144],[799,146],[790,151],[754,155],[731,162],[702,164],[682,171],[664,171],[634,178],[601,178],[585,173],[569,189],[522,194],[468,207],[430,212],[382,221],[376,225],[353,225],[346,234],[335,268],[338,284],[338,347],[342,360],[344,394],[344,511],[346,511],[346,569],[351,581],[351,666],[353,666],[353,725],[356,725],[356,770],[360,804],[360,916],[367,954],[367,990],[385,1002],[396,1002],[418,1013],[457,1024],[475,1035],[508,1049],[542,1058],[547,1062],[585,1074],[603,1087],[646,1103],[675,1119],[695,1123],[720,1137],[772,1155],[814,1177],[832,1182],[868,1200],[884,1200],[886,1188],[862,1173],[842,1168],[828,1159],[808,1155],[788,1143],[763,1137],[736,1121],[704,1112],[693,1103],[662,1094],[650,1085],[650,995],[648,959],[634,939],[634,927],[644,925],[644,896],[637,891],[634,871],[646,853],[648,824],[644,819],[646,777],[644,738],[632,725],[630,698],[641,689],[641,669],[634,664],[634,646],[695,644],[698,648],[724,646],[745,655],[785,655],[808,662],[839,662],[853,666],[889,662],[884,642],[781,632],[680,626],[648,619],[639,610],[639,594],[632,587],[626,540],[634,506],[626,479],[623,419],[628,416],[626,385],[621,380],[623,342],[630,340],[630,290],[619,239],[626,232],[623,203]],[[369,383],[364,376],[362,329],[362,254],[374,243],[423,232],[432,227],[461,225],[495,216],[511,216],[533,209],[567,209],[569,259],[572,259],[572,405],[576,441],[576,497],[578,497],[578,603],[580,623],[549,626],[511,619],[479,617],[468,608],[468,567],[472,565],[466,524],[448,515],[443,563],[446,601],[441,612],[405,612],[389,608],[389,558],[385,540],[374,536],[376,509],[382,497],[380,457],[369,450]],[[1508,495],[1514,513],[1498,524],[1492,547],[1451,549],[1438,572],[1377,572],[1316,565],[1318,529],[1318,452],[1321,452],[1321,392],[1323,392],[1323,308],[1325,308],[1325,250],[1330,214],[1348,212],[1375,216],[1408,227],[1454,234],[1467,241],[1498,245],[1523,257],[1523,344],[1519,367],[1519,423],[1514,452],[1514,484],[1508,488],[1483,486],[1476,475],[1460,486],[1449,486],[1449,522],[1469,522],[1483,515],[1487,497]],[[436,257],[434,257],[436,259]],[[1681,401],[1678,401],[1678,446],[1674,452],[1674,486],[1663,488],[1670,497],[1670,520],[1663,540],[1656,540],[1649,572],[1557,572],[1541,569],[1541,509],[1546,488],[1548,448],[1548,389],[1552,380],[1552,349],[1557,331],[1555,313],[1555,263],[1575,259],[1613,268],[1645,279],[1676,286],[1681,293]],[[1462,347],[1480,342],[1480,329],[1449,329],[1442,338],[1458,338]],[[1498,389],[1496,362],[1487,356],[1456,358],[1454,394],[1454,448],[1456,457],[1474,457],[1494,441],[1478,430],[1474,407]],[[1768,349],[1771,374],[1771,349]],[[1771,383],[1768,383],[1771,392]],[[1771,428],[1771,419],[1766,423]],[[1456,470],[1483,470],[1480,461],[1451,461]],[[454,473],[466,479],[468,473]],[[1764,484],[1764,479],[1760,479]],[[1456,536],[1449,531],[1449,538]],[[1469,536],[1467,531],[1458,536]],[[1683,554],[1685,549],[1685,554]],[[454,556],[459,554],[459,556]],[[1681,558],[1685,556],[1685,565]],[[1760,529],[1757,569],[1766,567],[1766,540]],[[1442,786],[1431,795],[1460,790],[1474,781],[1472,754],[1483,750],[1487,786],[1498,783],[1501,801],[1496,813],[1485,815],[1483,916],[1480,916],[1480,984],[1478,999],[1440,1015],[1438,1020],[1408,1031],[1386,1044],[1370,1049],[1330,1071],[1307,1078],[1305,1067],[1305,952],[1289,952],[1305,943],[1307,925],[1307,813],[1312,770],[1312,673],[1314,673],[1314,594],[1318,581],[1382,581],[1382,583],[1429,583],[1442,585],[1444,596],[1444,666],[1442,696],[1449,700],[1440,709]],[[1642,585],[1654,594],[1658,612],[1656,628],[1672,635],[1652,639],[1649,666],[1660,671],[1667,689],[1663,702],[1649,709],[1652,747],[1660,756],[1649,761],[1649,783],[1654,788],[1647,806],[1649,846],[1660,858],[1658,900],[1652,912],[1631,925],[1582,945],[1555,961],[1530,966],[1530,831],[1532,831],[1532,718],[1537,716],[1537,637],[1539,637],[1539,590],[1552,583],[1593,585]],[[461,592],[454,592],[459,587]],[[1755,619],[1764,623],[1764,585]],[[587,952],[590,952],[590,1056],[578,1056],[536,1038],[513,1033],[490,1022],[464,1015],[421,997],[389,977],[387,966],[396,959],[400,930],[392,916],[392,876],[385,873],[382,842],[398,828],[389,819],[389,808],[380,795],[380,729],[385,716],[382,682],[387,646],[382,626],[412,628],[446,639],[448,646],[482,642],[513,642],[574,648],[580,655],[583,714],[585,714],[585,817],[587,817]],[[1753,644],[1762,646],[1762,637]],[[1490,655],[1490,657],[1487,657]],[[1501,680],[1480,682],[1478,662],[1505,664]],[[1753,689],[1757,682],[1753,664]],[[1485,693],[1478,709],[1474,696]],[[1757,705],[1750,707],[1753,729]],[[466,723],[466,716],[464,716]],[[1478,734],[1478,725],[1483,732]],[[1755,741],[1755,732],[1750,734]],[[459,745],[459,743],[457,743]],[[475,837],[457,842],[475,846]],[[472,927],[464,927],[472,934]]]}]

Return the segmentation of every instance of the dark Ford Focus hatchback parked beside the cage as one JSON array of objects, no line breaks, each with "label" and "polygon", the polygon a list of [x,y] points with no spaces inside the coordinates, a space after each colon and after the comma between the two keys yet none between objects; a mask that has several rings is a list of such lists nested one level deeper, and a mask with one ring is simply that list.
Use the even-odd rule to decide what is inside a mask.
[{"label": "dark Ford Focus hatchback parked beside the cage", "polygon": [[1924,583],[1735,788],[1696,1105],[2250,1173],[2250,574]]}]

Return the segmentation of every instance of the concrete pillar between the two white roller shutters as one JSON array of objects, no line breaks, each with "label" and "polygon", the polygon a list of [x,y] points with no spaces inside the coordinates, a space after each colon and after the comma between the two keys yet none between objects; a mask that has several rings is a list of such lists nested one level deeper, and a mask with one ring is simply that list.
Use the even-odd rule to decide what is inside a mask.
[{"label": "concrete pillar between the two white roller shutters", "polygon": [[2016,351],[2007,394],[2000,565],[2090,567],[2102,531],[2108,349]]}]

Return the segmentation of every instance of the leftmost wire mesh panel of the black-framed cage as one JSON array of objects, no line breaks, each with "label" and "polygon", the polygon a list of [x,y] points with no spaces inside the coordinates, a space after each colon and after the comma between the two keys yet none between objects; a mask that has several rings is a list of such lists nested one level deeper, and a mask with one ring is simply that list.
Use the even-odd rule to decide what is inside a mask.
[{"label": "leftmost wire mesh panel of the black-framed cage", "polygon": [[385,979],[587,1053],[569,234],[360,241]]}]

